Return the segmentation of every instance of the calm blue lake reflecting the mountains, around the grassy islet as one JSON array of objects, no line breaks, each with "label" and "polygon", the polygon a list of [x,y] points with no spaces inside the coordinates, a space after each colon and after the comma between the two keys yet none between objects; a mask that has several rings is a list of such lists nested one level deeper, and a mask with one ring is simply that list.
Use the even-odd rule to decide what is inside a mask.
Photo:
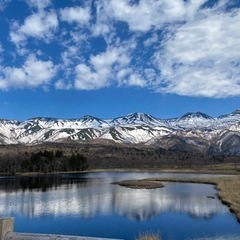
[{"label": "calm blue lake reflecting the mountains, around the grassy islet", "polygon": [[165,176],[191,177],[147,172],[1,177],[0,215],[15,218],[16,232],[126,240],[141,233],[158,233],[162,240],[240,239],[240,224],[212,185],[164,183],[164,188],[146,190],[111,184]]}]

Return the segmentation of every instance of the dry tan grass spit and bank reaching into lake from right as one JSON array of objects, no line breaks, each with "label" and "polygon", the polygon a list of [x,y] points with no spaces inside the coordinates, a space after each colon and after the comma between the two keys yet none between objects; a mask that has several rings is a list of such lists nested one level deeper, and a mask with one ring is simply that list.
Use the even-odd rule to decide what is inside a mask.
[{"label": "dry tan grass spit and bank reaching into lake from right", "polygon": [[[131,188],[157,188],[163,187],[162,182],[185,182],[213,184],[218,190],[218,197],[223,204],[226,204],[240,222],[240,176],[221,176],[204,178],[148,178],[141,180],[125,180],[118,182],[120,186]],[[158,186],[159,184],[159,186]]]}]

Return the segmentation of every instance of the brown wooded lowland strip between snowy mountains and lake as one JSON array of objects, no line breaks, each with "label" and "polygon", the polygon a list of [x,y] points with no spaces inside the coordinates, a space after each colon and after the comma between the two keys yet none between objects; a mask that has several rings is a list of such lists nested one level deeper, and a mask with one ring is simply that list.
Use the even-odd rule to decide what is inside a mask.
[{"label": "brown wooded lowland strip between snowy mountains and lake", "polygon": [[0,146],[0,174],[56,173],[96,169],[196,169],[232,164],[240,157],[116,143],[44,143]]}]

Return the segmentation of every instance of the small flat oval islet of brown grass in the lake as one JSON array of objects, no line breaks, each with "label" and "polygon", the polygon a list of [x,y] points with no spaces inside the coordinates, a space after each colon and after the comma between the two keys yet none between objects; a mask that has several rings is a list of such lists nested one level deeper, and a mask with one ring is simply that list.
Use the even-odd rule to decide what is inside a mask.
[{"label": "small flat oval islet of brown grass in the lake", "polygon": [[140,180],[125,180],[121,182],[114,182],[113,184],[118,184],[122,187],[135,188],[135,189],[154,189],[162,188],[164,185],[159,181],[151,181],[147,179]]}]

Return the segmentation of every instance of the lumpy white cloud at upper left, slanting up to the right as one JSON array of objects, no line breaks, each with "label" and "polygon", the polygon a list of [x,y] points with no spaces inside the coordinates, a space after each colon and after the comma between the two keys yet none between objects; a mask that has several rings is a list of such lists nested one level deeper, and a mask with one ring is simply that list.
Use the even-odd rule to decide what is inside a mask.
[{"label": "lumpy white cloud at upper left, slanting up to the right", "polygon": [[28,37],[47,42],[58,28],[58,18],[54,12],[41,11],[28,16],[23,25],[14,22],[11,28],[10,39],[17,47],[24,45]]}]

